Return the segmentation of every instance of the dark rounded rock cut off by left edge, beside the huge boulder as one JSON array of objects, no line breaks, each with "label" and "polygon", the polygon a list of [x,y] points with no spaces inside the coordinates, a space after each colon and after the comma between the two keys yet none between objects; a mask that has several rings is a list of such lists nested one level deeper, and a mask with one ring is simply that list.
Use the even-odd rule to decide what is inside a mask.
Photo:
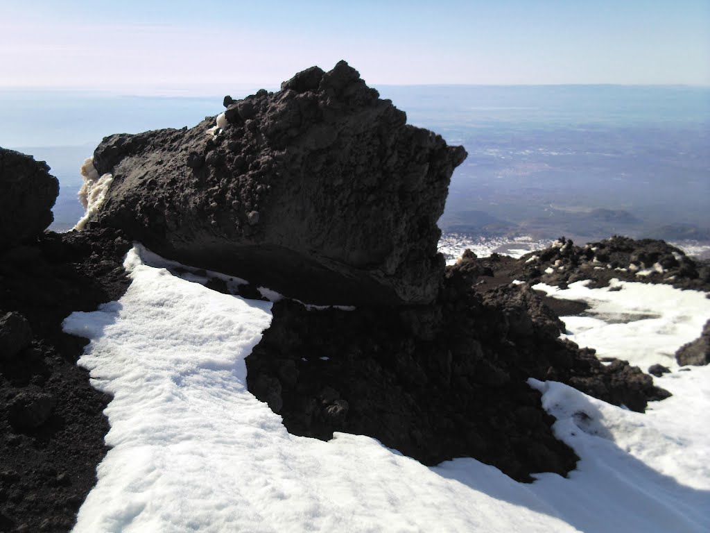
[{"label": "dark rounded rock cut off by left edge, beside the huge boulder", "polygon": [[59,181],[44,161],[0,147],[0,247],[29,242],[54,220]]}]

